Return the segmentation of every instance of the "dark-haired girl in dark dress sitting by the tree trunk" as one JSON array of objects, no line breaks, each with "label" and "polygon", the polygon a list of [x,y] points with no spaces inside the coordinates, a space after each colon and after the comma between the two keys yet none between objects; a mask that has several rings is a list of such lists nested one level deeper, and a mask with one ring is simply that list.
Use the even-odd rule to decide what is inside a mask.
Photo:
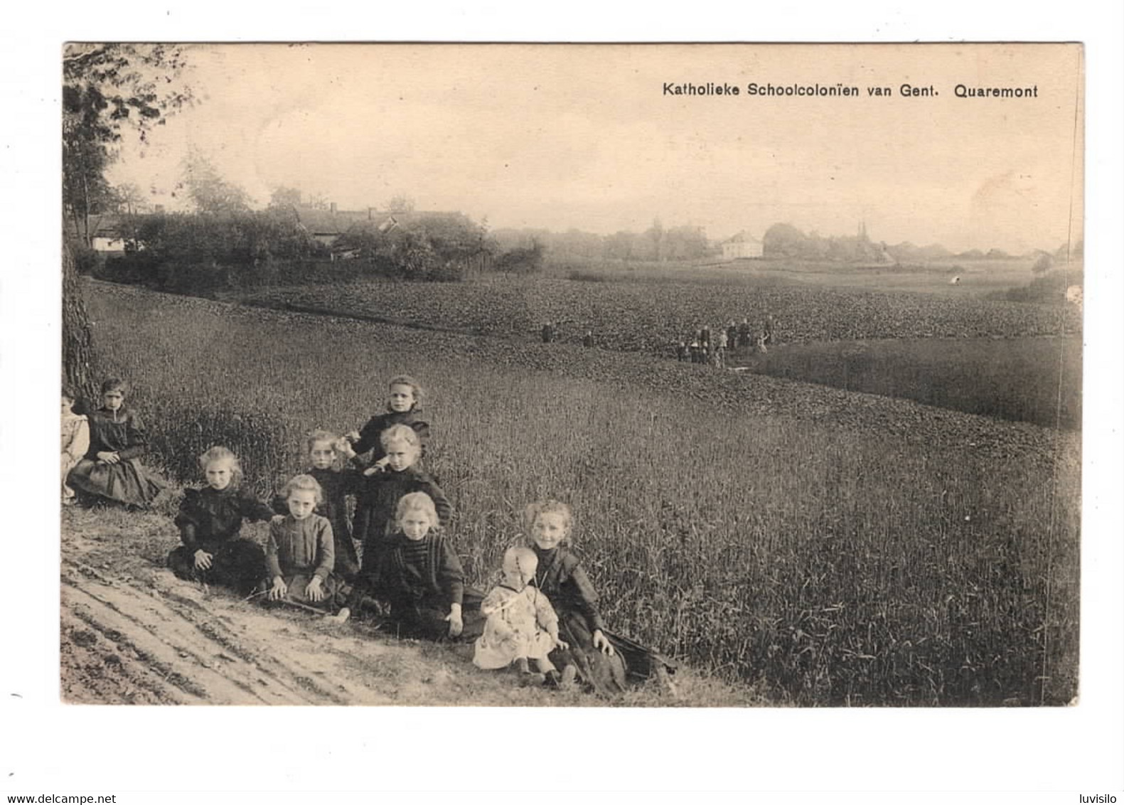
[{"label": "dark-haired girl in dark dress sitting by the tree trunk", "polygon": [[125,407],[129,387],[110,378],[101,385],[102,407],[89,415],[90,446],[67,477],[88,496],[147,508],[167,485],[140,463],[148,436],[136,411]]}]

